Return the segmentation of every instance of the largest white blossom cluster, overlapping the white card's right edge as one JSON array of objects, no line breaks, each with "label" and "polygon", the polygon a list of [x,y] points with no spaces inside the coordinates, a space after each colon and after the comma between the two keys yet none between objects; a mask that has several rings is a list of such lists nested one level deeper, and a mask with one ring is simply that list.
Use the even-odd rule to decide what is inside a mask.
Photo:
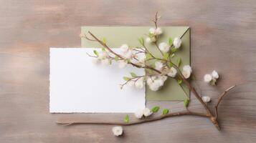
[{"label": "largest white blossom cluster, overlapping the white card's right edge", "polygon": [[151,90],[157,91],[163,86],[164,82],[166,82],[166,79],[167,79],[166,76],[148,77],[147,84]]}]

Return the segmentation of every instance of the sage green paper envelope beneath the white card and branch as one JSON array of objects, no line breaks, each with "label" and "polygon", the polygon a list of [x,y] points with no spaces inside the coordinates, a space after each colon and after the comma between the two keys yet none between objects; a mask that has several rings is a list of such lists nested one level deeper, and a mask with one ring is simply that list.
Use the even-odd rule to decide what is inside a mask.
[{"label": "sage green paper envelope beneath the white card and branch", "polygon": [[[146,38],[148,29],[150,26],[82,26],[82,34],[86,34],[88,31],[92,32],[99,39],[105,38],[108,46],[111,48],[118,48],[122,44],[128,44],[129,46],[140,46],[138,43],[139,37]],[[182,43],[178,51],[176,51],[173,62],[176,63],[177,57],[181,58],[180,69],[186,64],[190,64],[190,29],[189,26],[161,26],[163,34],[158,37],[158,44],[165,41],[168,43],[169,37],[174,39],[175,37],[181,37]],[[102,47],[95,41],[88,41],[87,39],[81,39],[82,47]],[[149,51],[154,56],[161,57],[160,51],[153,44],[146,43]],[[124,75],[125,76],[125,75]],[[181,101],[189,98],[189,89],[184,84],[178,84],[175,79],[166,80],[164,86],[157,92],[151,91],[146,86],[146,99],[159,100],[159,101]]]}]

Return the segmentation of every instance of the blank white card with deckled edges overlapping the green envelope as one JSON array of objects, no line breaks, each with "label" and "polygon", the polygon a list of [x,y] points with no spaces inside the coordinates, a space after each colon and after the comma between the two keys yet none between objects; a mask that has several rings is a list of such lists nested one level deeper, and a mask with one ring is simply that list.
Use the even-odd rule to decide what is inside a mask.
[{"label": "blank white card with deckled edges overlapping the green envelope", "polygon": [[144,75],[143,69],[119,69],[115,61],[110,66],[93,64],[87,53],[93,55],[93,49],[50,48],[49,112],[127,113],[145,107],[145,87],[120,89],[123,76],[131,71]]}]

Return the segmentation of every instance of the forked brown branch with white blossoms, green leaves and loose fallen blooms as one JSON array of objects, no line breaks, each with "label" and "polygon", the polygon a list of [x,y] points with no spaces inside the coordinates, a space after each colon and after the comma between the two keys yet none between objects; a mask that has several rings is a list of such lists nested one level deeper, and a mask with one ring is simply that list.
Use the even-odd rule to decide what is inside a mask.
[{"label": "forked brown branch with white blossoms, green leaves and loose fallen blooms", "polygon": [[[90,36],[92,36],[92,38],[88,38],[85,34],[81,34],[80,36],[90,41],[96,41],[104,47],[102,54],[98,54],[98,51],[94,51],[95,56],[89,55],[93,58],[104,61],[103,63],[110,64],[111,60],[115,60],[119,62],[120,67],[123,67],[126,64],[131,64],[132,66],[136,66],[137,68],[147,69],[146,75],[137,76],[135,73],[131,72],[130,73],[131,77],[123,77],[123,79],[125,80],[125,83],[120,84],[121,88],[123,88],[123,86],[125,86],[126,84],[128,85],[131,84],[132,86],[138,89],[142,89],[145,85],[144,82],[146,82],[148,84],[149,89],[151,89],[152,91],[157,91],[158,89],[161,89],[161,87],[163,87],[163,84],[167,78],[176,79],[176,81],[180,86],[182,83],[184,83],[186,87],[190,89],[190,91],[194,94],[196,99],[199,100],[200,104],[202,104],[206,113],[189,111],[188,109],[189,99],[185,99],[184,107],[186,107],[187,111],[169,113],[169,109],[163,109],[163,113],[161,116],[149,118],[151,114],[158,112],[159,107],[153,107],[152,109],[145,108],[145,109],[138,110],[138,112],[135,113],[135,116],[140,120],[134,121],[134,122],[129,122],[129,117],[128,115],[126,115],[124,122],[57,122],[57,124],[63,124],[63,125],[115,124],[115,125],[128,126],[133,124],[153,122],[153,121],[164,119],[167,117],[194,115],[194,116],[209,118],[214,124],[214,126],[217,127],[217,129],[220,129],[219,123],[217,121],[219,103],[222,101],[223,97],[227,94],[227,92],[233,89],[235,85],[232,87],[229,87],[223,92],[223,94],[221,95],[221,97],[219,97],[219,100],[214,107],[215,112],[212,112],[211,109],[207,106],[207,102],[210,102],[211,99],[209,97],[202,97],[201,95],[199,95],[196,92],[196,89],[193,87],[193,85],[190,84],[189,82],[189,78],[191,77],[191,72],[192,72],[191,66],[185,65],[181,71],[181,69],[179,69],[179,66],[181,64],[181,59],[179,57],[177,58],[177,64],[174,64],[174,62],[172,61],[173,60],[172,58],[175,56],[175,52],[178,51],[179,47],[181,46],[181,38],[182,36],[184,36],[186,32],[184,32],[184,34],[181,35],[181,37],[174,38],[174,41],[171,38],[169,38],[168,44],[166,44],[165,42],[157,44],[157,38],[163,32],[161,28],[158,27],[157,25],[157,21],[159,18],[160,16],[158,16],[158,13],[156,12],[155,19],[153,19],[155,28],[149,29],[149,34],[147,34],[148,37],[146,38],[146,42],[153,43],[156,46],[156,48],[161,52],[162,58],[158,58],[154,56],[148,50],[148,48],[144,43],[143,38],[138,39],[142,47],[132,48],[132,47],[129,47],[127,44],[123,44],[122,46],[120,46],[120,51],[122,51],[122,53],[118,54],[115,51],[113,51],[110,48],[110,46],[106,44],[105,40],[98,39],[98,37],[95,36],[90,31],[88,31],[88,33],[90,34]],[[110,56],[108,53],[113,54],[115,57]],[[140,56],[141,54],[142,56]],[[132,61],[133,59],[134,61]],[[154,65],[149,65],[146,62],[150,60],[156,60],[154,62]],[[211,85],[215,85],[218,78],[219,78],[219,74],[217,73],[217,71],[212,71],[212,74],[205,74],[204,82],[207,82]],[[181,88],[183,89],[182,86]],[[123,129],[121,127],[114,127],[113,132],[115,135],[119,136],[120,134],[122,134]]]}]

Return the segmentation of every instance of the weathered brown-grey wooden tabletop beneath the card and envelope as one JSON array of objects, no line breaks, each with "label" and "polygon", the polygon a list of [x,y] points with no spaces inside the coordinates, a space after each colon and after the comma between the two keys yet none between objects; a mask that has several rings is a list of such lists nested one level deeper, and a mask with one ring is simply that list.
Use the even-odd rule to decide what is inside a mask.
[{"label": "weathered brown-grey wooden tabletop beneath the card and envelope", "polygon": [[[0,142],[256,142],[256,1],[0,1]],[[191,65],[198,90],[213,103],[238,84],[219,107],[219,132],[202,117],[174,117],[125,127],[62,127],[57,119],[120,121],[123,114],[49,114],[49,46],[80,46],[80,26],[191,27]],[[203,82],[216,69],[217,87]],[[193,96],[192,96],[193,97]],[[171,111],[179,102],[147,102]],[[202,106],[192,99],[189,107]]]}]

